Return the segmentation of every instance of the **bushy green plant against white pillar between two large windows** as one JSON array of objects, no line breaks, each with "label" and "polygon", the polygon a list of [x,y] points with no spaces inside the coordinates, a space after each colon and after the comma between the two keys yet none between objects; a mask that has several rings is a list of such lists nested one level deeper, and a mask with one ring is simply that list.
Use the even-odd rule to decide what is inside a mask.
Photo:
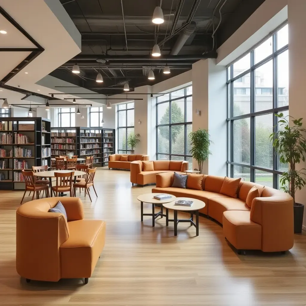
[{"label": "bushy green plant against white pillar between two large windows", "polygon": [[202,173],[203,163],[211,155],[209,151],[209,146],[212,143],[210,140],[210,135],[205,129],[198,129],[197,131],[191,132],[189,134],[191,150],[190,153],[192,157],[198,162],[199,171]]}]

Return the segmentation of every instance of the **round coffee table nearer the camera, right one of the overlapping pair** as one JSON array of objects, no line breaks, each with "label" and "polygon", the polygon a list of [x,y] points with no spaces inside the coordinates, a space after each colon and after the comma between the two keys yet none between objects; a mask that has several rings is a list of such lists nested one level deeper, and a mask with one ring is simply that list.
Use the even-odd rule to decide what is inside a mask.
[{"label": "round coffee table nearer the camera, right one of the overlapping pair", "polygon": [[[190,225],[196,227],[196,235],[199,236],[199,209],[205,207],[205,203],[203,201],[192,198],[176,198],[176,201],[177,200],[193,201],[193,203],[190,207],[182,205],[174,205],[175,201],[163,204],[163,206],[166,208],[166,226],[168,226],[169,221],[174,222],[174,236],[177,236],[177,224],[179,222],[190,222]],[[174,210],[174,219],[168,218],[169,209]],[[189,211],[190,219],[177,219],[177,211]],[[196,215],[196,223],[193,222],[193,214]]]}]

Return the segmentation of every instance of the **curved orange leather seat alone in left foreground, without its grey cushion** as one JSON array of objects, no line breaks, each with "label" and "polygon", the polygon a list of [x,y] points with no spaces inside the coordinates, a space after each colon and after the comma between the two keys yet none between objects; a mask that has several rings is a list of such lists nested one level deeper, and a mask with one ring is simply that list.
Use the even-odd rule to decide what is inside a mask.
[{"label": "curved orange leather seat alone in left foreground, without its grey cushion", "polygon": [[[67,213],[48,212],[61,201]],[[79,198],[52,197],[16,211],[16,269],[27,279],[57,282],[91,277],[105,242],[106,224],[86,220]]]}]

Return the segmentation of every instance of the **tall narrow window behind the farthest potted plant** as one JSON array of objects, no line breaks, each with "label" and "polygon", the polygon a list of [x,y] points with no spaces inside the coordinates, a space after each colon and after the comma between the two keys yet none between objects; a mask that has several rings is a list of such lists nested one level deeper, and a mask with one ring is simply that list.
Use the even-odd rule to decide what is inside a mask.
[{"label": "tall narrow window behind the farthest potted plant", "polygon": [[130,133],[134,133],[134,102],[118,104],[118,153],[130,154]]}]

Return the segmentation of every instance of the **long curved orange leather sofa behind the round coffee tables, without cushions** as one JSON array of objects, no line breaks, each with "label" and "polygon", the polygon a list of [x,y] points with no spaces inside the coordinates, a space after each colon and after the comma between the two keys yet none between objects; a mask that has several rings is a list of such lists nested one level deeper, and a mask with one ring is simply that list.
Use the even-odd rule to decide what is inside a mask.
[{"label": "long curved orange leather sofa behind the round coffee tables, without cushions", "polygon": [[[284,252],[293,247],[293,198],[289,194],[241,181],[235,199],[219,193],[224,177],[205,175],[203,191],[172,188],[173,180],[171,173],[158,174],[152,192],[205,202],[205,207],[199,212],[223,224],[224,236],[236,249]],[[253,186],[259,190],[259,197],[253,199],[249,208],[245,202]]]}]

